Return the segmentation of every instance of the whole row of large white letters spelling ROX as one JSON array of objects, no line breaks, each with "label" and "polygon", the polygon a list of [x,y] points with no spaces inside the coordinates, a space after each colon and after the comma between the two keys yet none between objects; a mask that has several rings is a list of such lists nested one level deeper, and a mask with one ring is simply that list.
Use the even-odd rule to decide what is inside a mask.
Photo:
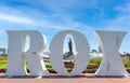
[{"label": "whole row of large white letters spelling ROX", "polygon": [[[127,31],[94,31],[99,40],[99,44],[103,52],[103,59],[100,68],[95,72],[98,77],[129,77],[126,71],[118,53],[121,41]],[[63,44],[67,34],[72,34],[75,39],[75,49],[77,54],[75,56],[76,64],[72,72],[66,71],[63,59]],[[27,70],[25,68],[28,63],[31,77],[49,77],[50,73],[46,67],[46,63],[39,55],[46,49],[46,37],[37,30],[22,30],[8,31],[8,69],[6,77],[25,77]],[[30,38],[30,47],[25,51],[26,37]],[[37,40],[37,41],[36,41]],[[72,39],[68,41],[69,53],[73,52]],[[87,69],[90,58],[90,46],[86,37],[76,30],[63,30],[57,32],[49,45],[50,63],[53,69],[65,77],[79,75]]]}]

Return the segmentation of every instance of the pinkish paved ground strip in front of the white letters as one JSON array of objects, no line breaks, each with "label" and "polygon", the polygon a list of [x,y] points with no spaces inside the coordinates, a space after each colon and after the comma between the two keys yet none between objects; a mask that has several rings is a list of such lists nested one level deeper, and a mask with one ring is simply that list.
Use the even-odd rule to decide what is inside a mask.
[{"label": "pinkish paved ground strip in front of the white letters", "polygon": [[5,78],[0,73],[0,83],[130,83],[129,78],[98,78],[94,74],[81,74],[74,78],[64,78],[52,74],[49,78]]}]

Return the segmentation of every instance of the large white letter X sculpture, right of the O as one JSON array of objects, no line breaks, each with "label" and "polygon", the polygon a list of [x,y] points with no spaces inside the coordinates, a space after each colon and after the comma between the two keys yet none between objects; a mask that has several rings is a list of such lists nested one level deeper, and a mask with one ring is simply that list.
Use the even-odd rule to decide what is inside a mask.
[{"label": "large white letter X sculpture, right of the O", "polygon": [[125,77],[128,75],[119,55],[119,47],[127,31],[95,31],[103,59],[95,75],[99,77]]}]

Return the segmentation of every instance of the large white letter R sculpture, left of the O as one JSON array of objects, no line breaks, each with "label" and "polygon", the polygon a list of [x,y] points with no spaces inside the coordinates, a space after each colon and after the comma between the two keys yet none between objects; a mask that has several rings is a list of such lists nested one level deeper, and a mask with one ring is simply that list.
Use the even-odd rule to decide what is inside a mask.
[{"label": "large white letter R sculpture, left of the O", "polygon": [[[42,57],[38,55],[46,46],[46,38],[35,30],[26,31],[8,31],[9,34],[9,52],[8,52],[8,77],[27,74],[25,69],[25,58],[32,77],[49,75]],[[30,38],[29,50],[25,52],[26,36]]]}]

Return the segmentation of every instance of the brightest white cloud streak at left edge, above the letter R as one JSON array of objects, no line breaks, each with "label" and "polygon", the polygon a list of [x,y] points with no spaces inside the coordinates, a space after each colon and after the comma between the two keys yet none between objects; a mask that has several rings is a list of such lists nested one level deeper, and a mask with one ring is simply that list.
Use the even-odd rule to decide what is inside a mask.
[{"label": "brightest white cloud streak at left edge, above the letter R", "polygon": [[0,19],[8,20],[8,22],[20,23],[20,24],[34,25],[34,22],[31,19],[27,18],[27,17],[10,15],[10,14],[0,14]]}]

